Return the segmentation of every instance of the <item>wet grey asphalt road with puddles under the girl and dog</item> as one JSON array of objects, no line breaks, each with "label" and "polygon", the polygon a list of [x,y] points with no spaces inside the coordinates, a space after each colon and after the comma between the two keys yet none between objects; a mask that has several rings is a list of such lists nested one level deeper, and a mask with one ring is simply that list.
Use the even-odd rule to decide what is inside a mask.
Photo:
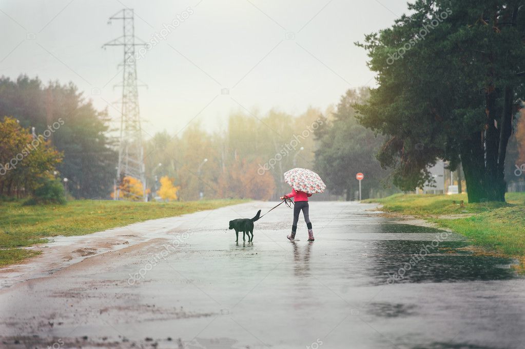
[{"label": "wet grey asphalt road with puddles under the girl and dog", "polygon": [[280,206],[236,244],[228,221],[271,206],[165,219],[164,237],[0,289],[0,347],[524,347],[512,260],[350,202],[310,203],[313,243],[301,221],[286,239],[292,211]]}]

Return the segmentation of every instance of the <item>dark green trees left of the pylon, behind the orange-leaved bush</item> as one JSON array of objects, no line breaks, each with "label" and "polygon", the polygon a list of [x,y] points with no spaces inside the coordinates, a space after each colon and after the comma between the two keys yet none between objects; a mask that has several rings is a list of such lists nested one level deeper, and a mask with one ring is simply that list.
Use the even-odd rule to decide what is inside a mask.
[{"label": "dark green trees left of the pylon, behind the orange-leaved bush", "polygon": [[117,152],[108,135],[108,114],[97,111],[74,84],[44,85],[26,75],[16,81],[1,77],[0,118],[4,116],[13,117],[24,128],[35,127],[37,137],[49,133],[46,140],[62,154],[57,175],[68,179],[68,191],[74,197],[109,197]]}]

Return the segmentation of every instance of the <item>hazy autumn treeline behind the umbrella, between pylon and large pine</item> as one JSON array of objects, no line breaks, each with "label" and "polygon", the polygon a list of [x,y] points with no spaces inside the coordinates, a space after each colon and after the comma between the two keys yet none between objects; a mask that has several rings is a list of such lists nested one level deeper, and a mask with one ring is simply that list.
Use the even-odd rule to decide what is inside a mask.
[{"label": "hazy autumn treeline behind the umbrella, between pylon and large pine", "polygon": [[306,167],[319,172],[332,199],[355,198],[359,171],[365,173],[364,198],[391,193],[395,189],[383,185],[387,172],[375,159],[382,138],[359,125],[352,107],[366,97],[367,89],[350,90],[337,107],[309,108],[299,116],[236,113],[213,134],[199,122],[177,136],[158,133],[145,146],[148,181],[174,177],[183,200],[196,200],[201,192],[205,198],[276,200],[290,191],[282,174]]}]

